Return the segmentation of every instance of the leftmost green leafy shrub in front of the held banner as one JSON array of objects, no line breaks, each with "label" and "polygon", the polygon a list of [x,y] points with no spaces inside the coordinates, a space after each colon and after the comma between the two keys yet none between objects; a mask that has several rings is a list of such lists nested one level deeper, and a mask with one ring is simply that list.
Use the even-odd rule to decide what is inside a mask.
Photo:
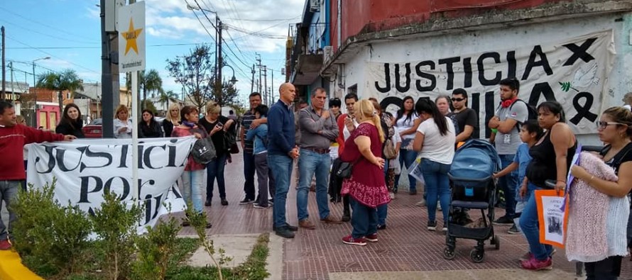
[{"label": "leftmost green leafy shrub in front of the held banner", "polygon": [[28,267],[52,279],[86,268],[92,232],[87,213],[55,200],[55,184],[20,190],[10,206],[17,217],[11,232],[16,251]]}]

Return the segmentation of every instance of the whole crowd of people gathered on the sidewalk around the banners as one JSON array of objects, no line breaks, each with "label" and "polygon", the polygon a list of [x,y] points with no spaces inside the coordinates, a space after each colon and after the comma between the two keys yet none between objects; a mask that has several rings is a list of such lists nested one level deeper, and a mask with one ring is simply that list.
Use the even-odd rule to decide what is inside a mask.
[{"label": "whole crowd of people gathered on the sidewalk around the banners", "polygon": [[[491,222],[511,226],[508,233],[524,235],[529,251],[521,257],[521,267],[551,269],[555,250],[540,243],[533,192],[564,190],[570,169],[575,178],[586,181],[596,191],[614,198],[625,197],[632,189],[632,153],[628,155],[628,150],[632,150],[632,113],[628,108],[609,108],[597,122],[596,132],[607,144],[600,157],[619,176],[618,181],[608,181],[589,173],[585,167],[572,165],[578,143],[565,123],[560,103],[540,103],[533,108],[537,116],[530,116],[530,105],[518,99],[517,79],[503,79],[499,88],[501,102],[487,127],[491,131],[489,141],[501,159],[501,170],[494,174],[494,179],[498,179],[498,189],[502,190],[505,214]],[[129,108],[121,105],[116,108],[114,135],[131,138],[132,130],[138,129],[143,138],[209,137],[217,156],[207,164],[190,158],[181,184],[185,200],[192,203],[195,211],[202,212],[204,206],[213,203],[216,180],[221,205],[229,204],[224,169],[231,162],[231,154],[238,150],[234,139],[239,133],[245,179],[244,198],[239,204],[272,208],[273,231],[292,238],[299,228],[317,228],[307,210],[312,189],[318,220],[329,224],[351,222],[352,233],[342,237],[342,242],[349,245],[378,241],[378,230],[386,229],[388,203],[400,189],[401,170],[408,169],[408,193],[415,195],[418,182],[411,176],[411,168],[417,167],[423,174],[423,199],[417,206],[427,207],[427,230],[441,226],[442,231],[447,231],[452,197],[448,172],[454,152],[463,142],[483,136],[478,113],[467,107],[467,91],[455,89],[452,96],[438,96],[434,101],[427,98],[415,101],[405,96],[395,116],[381,108],[377,99],[359,99],[356,94],[347,94],[342,101],[331,99],[327,103],[327,96],[325,89],[316,88],[310,93],[310,102],[300,101],[295,109],[295,86],[285,83],[279,88],[278,101],[270,107],[261,103],[261,94],[250,94],[250,108],[241,121],[232,113],[222,116],[219,104],[209,101],[202,117],[195,106],[181,108],[173,103],[162,123],[156,121],[152,111],[143,110],[136,126],[129,119]],[[343,102],[347,113],[340,111]],[[65,107],[56,133],[48,133],[18,123],[11,103],[0,101],[3,154],[13,157],[14,151],[30,142],[82,137],[82,116],[75,104]],[[18,146],[20,149],[13,149]],[[21,164],[18,167],[6,163],[11,160],[4,162],[0,166],[0,179],[4,180],[0,181],[0,198],[9,203],[25,175]],[[296,226],[287,222],[285,213],[293,172],[298,179]],[[554,186],[547,181],[554,181]],[[339,201],[343,204],[342,217],[329,211],[329,203]],[[441,224],[437,223],[437,208],[442,211]],[[10,220],[14,218],[11,213]],[[183,225],[188,225],[187,220]],[[207,223],[207,228],[210,227]],[[0,222],[0,250],[11,247],[7,238],[6,227]],[[614,238],[626,239],[626,236]],[[595,275],[618,276],[621,257],[613,254],[597,262],[587,262],[589,279]]]}]

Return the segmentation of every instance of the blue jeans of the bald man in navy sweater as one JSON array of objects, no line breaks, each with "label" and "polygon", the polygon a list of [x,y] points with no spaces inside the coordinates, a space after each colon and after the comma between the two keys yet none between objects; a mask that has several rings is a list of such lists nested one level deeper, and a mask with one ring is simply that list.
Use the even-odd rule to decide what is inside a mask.
[{"label": "blue jeans of the bald man in navy sweater", "polygon": [[272,170],[276,189],[272,207],[275,228],[285,226],[285,201],[288,199],[293,164],[294,160],[287,155],[271,155],[268,153],[268,167]]}]

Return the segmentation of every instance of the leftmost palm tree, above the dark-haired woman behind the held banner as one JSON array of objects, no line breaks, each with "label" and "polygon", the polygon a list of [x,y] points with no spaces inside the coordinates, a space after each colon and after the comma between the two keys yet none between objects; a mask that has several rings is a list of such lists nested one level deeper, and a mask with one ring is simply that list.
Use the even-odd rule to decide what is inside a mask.
[{"label": "leftmost palm tree, above the dark-haired woman behind the held banner", "polygon": [[44,89],[52,89],[57,91],[59,98],[59,111],[64,110],[64,99],[62,91],[70,91],[70,97],[74,98],[75,91],[83,90],[83,80],[79,79],[77,72],[73,69],[65,69],[62,72],[48,72],[40,75],[37,86]]}]

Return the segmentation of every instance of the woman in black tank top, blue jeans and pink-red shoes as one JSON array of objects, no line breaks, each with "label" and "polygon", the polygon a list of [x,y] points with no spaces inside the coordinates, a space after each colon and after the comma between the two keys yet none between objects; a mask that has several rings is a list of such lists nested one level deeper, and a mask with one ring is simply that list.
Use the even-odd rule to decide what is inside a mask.
[{"label": "woman in black tank top, blue jeans and pink-red shoes", "polygon": [[[547,130],[529,150],[533,157],[527,167],[526,177],[531,184],[545,188],[546,180],[555,180],[555,189],[566,187],[568,167],[577,147],[575,135],[565,123],[564,111],[557,101],[545,101],[538,106],[538,123]],[[520,226],[527,241],[530,253],[521,261],[523,269],[551,269],[553,262],[551,245],[540,243],[538,230],[538,208],[535,195],[531,195],[520,217]]]}]

